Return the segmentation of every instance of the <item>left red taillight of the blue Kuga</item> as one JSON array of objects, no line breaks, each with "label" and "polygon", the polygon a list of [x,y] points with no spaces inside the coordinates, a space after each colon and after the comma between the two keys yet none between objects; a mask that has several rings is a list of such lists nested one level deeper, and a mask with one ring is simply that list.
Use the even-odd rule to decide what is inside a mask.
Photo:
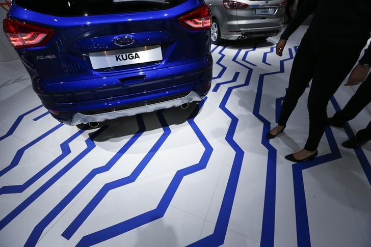
[{"label": "left red taillight of the blue Kuga", "polygon": [[54,35],[54,30],[6,18],[3,21],[4,33],[14,48],[28,48],[46,44]]}]

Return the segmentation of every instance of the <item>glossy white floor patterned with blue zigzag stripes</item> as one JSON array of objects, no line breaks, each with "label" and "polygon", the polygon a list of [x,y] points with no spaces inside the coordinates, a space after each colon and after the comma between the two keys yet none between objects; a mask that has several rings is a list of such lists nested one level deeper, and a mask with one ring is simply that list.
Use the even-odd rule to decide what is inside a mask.
[{"label": "glossy white floor patterned with blue zigzag stripes", "polygon": [[[293,164],[284,156],[306,141],[308,89],[284,134],[262,138],[305,29],[282,58],[278,37],[212,46],[214,91],[195,119],[193,104],[63,126],[37,108],[20,61],[1,63],[0,245],[371,246],[371,142],[340,145],[369,112],[328,128],[319,157]],[[353,90],[341,86],[329,116]]]}]

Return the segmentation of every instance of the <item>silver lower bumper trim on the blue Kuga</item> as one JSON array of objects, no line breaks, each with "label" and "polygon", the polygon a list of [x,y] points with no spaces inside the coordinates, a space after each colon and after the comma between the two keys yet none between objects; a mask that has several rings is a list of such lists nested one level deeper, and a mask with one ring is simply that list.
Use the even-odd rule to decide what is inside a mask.
[{"label": "silver lower bumper trim on the blue Kuga", "polygon": [[121,117],[128,117],[128,116],[134,116],[137,114],[142,113],[149,113],[154,112],[160,109],[166,109],[171,107],[180,106],[185,103],[189,103],[192,101],[201,101],[204,97],[200,97],[196,92],[191,92],[187,96],[184,96],[182,98],[173,99],[169,101],[164,101],[160,103],[150,104],[150,105],[144,105],[136,108],[130,108],[130,109],[124,109],[122,111],[117,112],[109,112],[109,113],[101,113],[96,115],[84,115],[81,113],[76,113],[73,118],[71,125],[77,125],[77,124],[87,124],[90,122],[103,122],[105,120],[109,119],[116,119]]}]

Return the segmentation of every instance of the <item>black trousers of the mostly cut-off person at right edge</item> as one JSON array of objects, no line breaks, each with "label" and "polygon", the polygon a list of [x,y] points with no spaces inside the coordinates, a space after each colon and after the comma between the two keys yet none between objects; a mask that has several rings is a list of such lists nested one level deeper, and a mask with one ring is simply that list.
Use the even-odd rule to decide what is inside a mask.
[{"label": "black trousers of the mostly cut-off person at right edge", "polygon": [[[368,75],[365,81],[359,86],[357,92],[348,101],[346,106],[337,112],[333,118],[336,122],[345,123],[354,119],[367,104],[371,102],[371,74]],[[371,121],[367,127],[361,129],[356,134],[357,139],[361,142],[371,140]]]}]

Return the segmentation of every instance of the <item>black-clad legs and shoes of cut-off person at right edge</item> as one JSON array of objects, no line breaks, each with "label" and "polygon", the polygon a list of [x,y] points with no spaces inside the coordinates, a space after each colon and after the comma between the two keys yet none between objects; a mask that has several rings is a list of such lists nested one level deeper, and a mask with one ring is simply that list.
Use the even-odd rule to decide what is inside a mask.
[{"label": "black-clad legs and shoes of cut-off person at right edge", "polygon": [[[348,86],[346,84],[346,86]],[[329,118],[330,125],[342,128],[345,123],[354,119],[367,104],[371,102],[371,74],[357,89],[353,97],[348,101],[346,106],[339,112]],[[359,148],[371,140],[371,121],[365,129],[357,132],[356,136],[341,145],[346,148]]]}]

